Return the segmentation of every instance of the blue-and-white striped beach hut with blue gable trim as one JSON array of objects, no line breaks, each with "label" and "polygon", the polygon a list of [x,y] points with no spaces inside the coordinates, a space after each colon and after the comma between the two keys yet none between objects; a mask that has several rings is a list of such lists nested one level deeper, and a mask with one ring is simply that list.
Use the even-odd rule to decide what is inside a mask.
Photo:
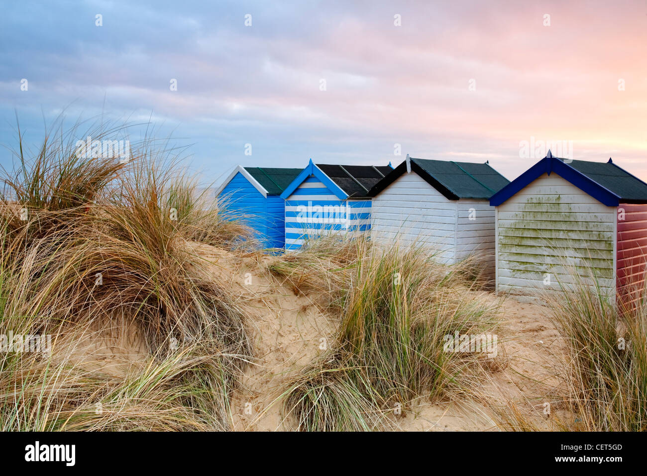
[{"label": "blue-and-white striped beach hut with blue gable trim", "polygon": [[285,188],[285,249],[299,249],[322,234],[364,232],[371,227],[369,190],[393,168],[389,165],[310,163]]}]

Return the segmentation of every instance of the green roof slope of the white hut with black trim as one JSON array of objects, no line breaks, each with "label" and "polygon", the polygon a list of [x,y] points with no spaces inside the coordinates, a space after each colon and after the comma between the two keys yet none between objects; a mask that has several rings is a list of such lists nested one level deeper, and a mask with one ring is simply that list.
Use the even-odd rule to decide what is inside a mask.
[{"label": "green roof slope of the white hut with black trim", "polygon": [[510,183],[489,164],[414,159],[424,172],[457,198],[489,199]]}]

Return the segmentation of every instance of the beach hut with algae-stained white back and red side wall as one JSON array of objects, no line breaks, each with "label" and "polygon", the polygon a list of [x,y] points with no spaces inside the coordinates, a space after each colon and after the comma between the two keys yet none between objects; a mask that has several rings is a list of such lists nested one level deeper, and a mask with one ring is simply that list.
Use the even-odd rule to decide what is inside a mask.
[{"label": "beach hut with algae-stained white back and red side wall", "polygon": [[560,159],[549,151],[490,205],[497,291],[537,296],[594,275],[611,299],[635,299],[647,256],[647,184],[611,159]]}]

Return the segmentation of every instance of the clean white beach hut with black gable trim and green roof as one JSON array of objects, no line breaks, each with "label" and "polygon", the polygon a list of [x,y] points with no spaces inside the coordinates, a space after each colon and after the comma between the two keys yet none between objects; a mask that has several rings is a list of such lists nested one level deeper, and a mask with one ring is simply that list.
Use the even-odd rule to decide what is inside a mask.
[{"label": "clean white beach hut with black gable trim and green roof", "polygon": [[509,181],[488,163],[406,160],[373,189],[371,240],[428,247],[439,262],[479,255],[494,278],[494,208]]}]

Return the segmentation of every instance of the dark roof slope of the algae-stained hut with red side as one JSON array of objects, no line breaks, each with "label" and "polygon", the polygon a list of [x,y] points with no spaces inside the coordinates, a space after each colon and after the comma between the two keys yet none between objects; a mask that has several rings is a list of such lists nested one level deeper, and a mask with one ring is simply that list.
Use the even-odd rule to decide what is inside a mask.
[{"label": "dark roof slope of the algae-stained hut with red side", "polygon": [[[564,159],[560,159],[564,161]],[[622,170],[613,162],[566,162],[581,174],[589,177],[598,185],[619,196],[623,200],[647,200],[647,183]]]}]

